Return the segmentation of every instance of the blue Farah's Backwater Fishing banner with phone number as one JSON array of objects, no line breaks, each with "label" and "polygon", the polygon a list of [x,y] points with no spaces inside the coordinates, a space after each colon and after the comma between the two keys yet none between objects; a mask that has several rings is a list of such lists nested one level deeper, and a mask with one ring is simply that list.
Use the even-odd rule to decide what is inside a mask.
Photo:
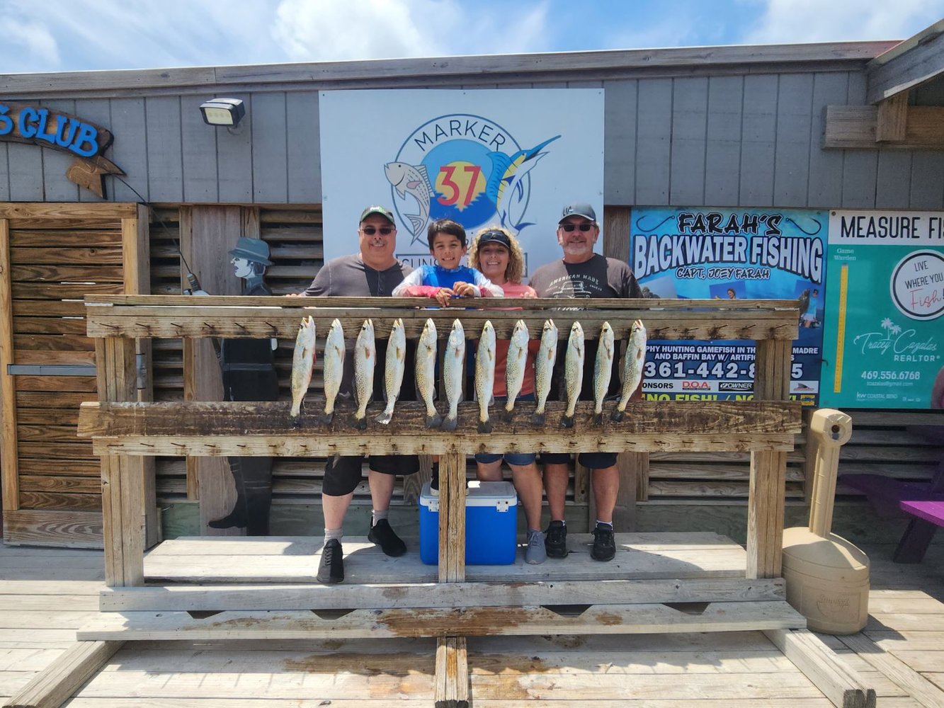
[{"label": "blue Farah's Backwater Fishing banner with phone number", "polygon": [[[818,405],[827,212],[776,209],[632,210],[630,265],[651,297],[801,301],[790,397]],[[647,400],[752,396],[751,342],[650,341]]]}]

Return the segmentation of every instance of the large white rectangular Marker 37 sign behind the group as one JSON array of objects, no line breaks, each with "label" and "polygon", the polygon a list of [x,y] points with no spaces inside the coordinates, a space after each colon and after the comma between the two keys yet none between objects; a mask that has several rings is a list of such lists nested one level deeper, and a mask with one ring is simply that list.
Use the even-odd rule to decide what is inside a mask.
[{"label": "large white rectangular Marker 37 sign behind the group", "polygon": [[[561,257],[565,205],[603,214],[603,90],[319,93],[325,260],[357,250],[369,204],[396,215],[396,257],[430,262],[427,228],[508,228],[526,274]],[[602,239],[597,242],[602,249]]]}]

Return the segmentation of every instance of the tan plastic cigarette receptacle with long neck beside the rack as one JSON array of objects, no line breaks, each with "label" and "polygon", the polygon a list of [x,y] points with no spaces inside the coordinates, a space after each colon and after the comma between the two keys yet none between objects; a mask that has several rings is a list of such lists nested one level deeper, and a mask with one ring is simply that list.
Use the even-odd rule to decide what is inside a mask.
[{"label": "tan plastic cigarette receptacle with long neck beside the rack", "polygon": [[815,481],[807,528],[784,531],[786,601],[816,632],[852,634],[868,621],[868,556],[830,531],[833,525],[839,447],[852,435],[845,413],[820,409],[810,421],[817,446]]}]

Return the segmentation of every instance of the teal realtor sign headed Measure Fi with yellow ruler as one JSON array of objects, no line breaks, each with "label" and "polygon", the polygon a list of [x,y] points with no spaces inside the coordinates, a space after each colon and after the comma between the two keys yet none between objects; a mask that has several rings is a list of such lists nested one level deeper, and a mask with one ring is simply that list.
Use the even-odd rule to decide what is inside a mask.
[{"label": "teal realtor sign headed Measure Fi with yellow ruler", "polygon": [[821,402],[930,408],[944,367],[944,212],[832,211]]}]

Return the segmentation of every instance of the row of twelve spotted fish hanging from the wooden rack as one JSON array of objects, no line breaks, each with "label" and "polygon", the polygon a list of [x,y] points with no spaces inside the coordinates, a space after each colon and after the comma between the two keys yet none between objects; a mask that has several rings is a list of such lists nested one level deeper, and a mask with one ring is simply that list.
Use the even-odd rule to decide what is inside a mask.
[{"label": "row of twelve spotted fish hanging from the wooden rack", "polygon": [[[510,420],[514,414],[514,401],[521,392],[528,365],[528,344],[530,333],[522,320],[514,324],[509,341],[505,366],[505,388],[507,399],[504,417]],[[403,321],[396,319],[390,330],[387,343],[386,362],[384,362],[384,393],[386,407],[377,416],[377,422],[387,425],[393,419],[396,399],[403,383],[406,367],[406,330]],[[443,357],[443,388],[447,400],[447,413],[444,417],[435,406],[436,363],[438,361],[439,340],[436,325],[426,321],[416,349],[416,387],[426,408],[426,427],[455,430],[458,423],[459,402],[463,395],[465,376],[465,332],[459,320],[452,323],[452,329],[446,341]],[[354,393],[357,410],[354,413],[355,426],[363,430],[367,427],[367,404],[374,395],[374,369],[377,365],[377,345],[374,338],[374,323],[364,320],[361,331],[354,344]],[[534,397],[537,401],[531,422],[544,425],[546,422],[545,406],[550,394],[551,379],[557,358],[558,329],[553,320],[544,323],[540,345],[534,358]],[[565,413],[561,425],[573,428],[574,411],[583,386],[584,336],[580,322],[570,328],[565,350]],[[485,322],[479,335],[476,355],[475,392],[479,403],[479,432],[491,432],[492,421],[489,406],[494,402],[497,339],[491,322]],[[312,317],[303,318],[295,337],[295,353],[292,360],[292,408],[290,415],[298,419],[301,404],[308,392],[312,380],[312,368],[315,354],[315,332]],[[324,388],[325,412],[322,421],[330,423],[334,414],[334,403],[341,390],[345,364],[345,333],[341,322],[334,320],[325,343]],[[615,333],[609,322],[604,322],[600,329],[597,359],[594,362],[594,422],[603,420],[603,400],[610,387],[615,358]],[[630,338],[623,358],[623,385],[616,407],[611,413],[615,421],[623,419],[627,403],[639,387],[642,379],[643,364],[646,362],[646,328],[642,321],[636,320],[630,330]]]}]

